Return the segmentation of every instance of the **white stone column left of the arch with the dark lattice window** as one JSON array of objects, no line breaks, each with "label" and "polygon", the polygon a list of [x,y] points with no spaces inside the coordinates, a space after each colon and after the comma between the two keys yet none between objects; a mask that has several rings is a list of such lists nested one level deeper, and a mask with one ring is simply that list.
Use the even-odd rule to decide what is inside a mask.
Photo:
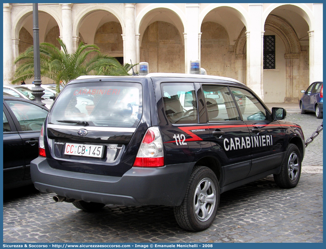
[{"label": "white stone column left of the arch with the dark lattice window", "polygon": [[[262,4],[249,4],[247,34],[247,85],[263,100],[263,25]],[[250,33],[249,33],[250,32]],[[250,35],[250,36],[249,36]]]}]

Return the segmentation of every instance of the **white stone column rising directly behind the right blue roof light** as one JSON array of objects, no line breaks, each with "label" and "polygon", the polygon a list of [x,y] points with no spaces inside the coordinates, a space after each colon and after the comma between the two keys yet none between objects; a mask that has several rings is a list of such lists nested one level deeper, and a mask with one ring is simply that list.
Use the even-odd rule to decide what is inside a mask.
[{"label": "white stone column rising directly behind the right blue roof light", "polygon": [[187,30],[185,42],[185,63],[186,72],[190,70],[190,60],[200,59],[199,53],[199,4],[185,4],[185,14],[187,18]]}]

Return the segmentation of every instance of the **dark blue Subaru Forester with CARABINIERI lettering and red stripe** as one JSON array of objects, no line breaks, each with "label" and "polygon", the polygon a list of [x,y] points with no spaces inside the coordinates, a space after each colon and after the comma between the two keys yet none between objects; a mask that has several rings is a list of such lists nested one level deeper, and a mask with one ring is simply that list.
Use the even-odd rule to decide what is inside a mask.
[{"label": "dark blue Subaru Forester with CARABINIERI lettering and red stripe", "polygon": [[32,180],[85,211],[167,205],[182,228],[203,230],[227,190],[271,174],[298,184],[304,134],[285,116],[230,78],[79,77],[45,120]]}]

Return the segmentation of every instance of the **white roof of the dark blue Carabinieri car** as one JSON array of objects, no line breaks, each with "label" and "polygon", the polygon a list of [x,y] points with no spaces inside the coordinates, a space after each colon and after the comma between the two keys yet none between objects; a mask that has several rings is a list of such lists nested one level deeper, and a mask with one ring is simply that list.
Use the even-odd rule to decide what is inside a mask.
[{"label": "white roof of the dark blue Carabinieri car", "polygon": [[[83,75],[79,76],[76,80],[82,79],[95,79],[95,78],[108,78],[108,77],[119,77],[119,76],[100,76],[100,75]],[[214,75],[202,75],[202,74],[183,74],[183,73],[149,73],[147,75],[137,75],[137,76],[121,76],[121,77],[169,77],[169,78],[198,78],[198,79],[213,79],[222,81],[232,81],[236,83],[241,83],[232,78],[214,76]],[[241,83],[242,84],[242,83]]]}]

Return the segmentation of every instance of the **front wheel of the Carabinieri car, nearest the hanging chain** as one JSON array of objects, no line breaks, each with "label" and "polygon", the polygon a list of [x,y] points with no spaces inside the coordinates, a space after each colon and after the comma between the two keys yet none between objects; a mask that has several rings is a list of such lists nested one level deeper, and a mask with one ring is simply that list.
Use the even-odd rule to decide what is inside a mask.
[{"label": "front wheel of the Carabinieri car, nearest the hanging chain", "polygon": [[301,175],[301,154],[298,147],[289,144],[281,165],[281,172],[274,174],[274,181],[280,188],[294,188]]}]

